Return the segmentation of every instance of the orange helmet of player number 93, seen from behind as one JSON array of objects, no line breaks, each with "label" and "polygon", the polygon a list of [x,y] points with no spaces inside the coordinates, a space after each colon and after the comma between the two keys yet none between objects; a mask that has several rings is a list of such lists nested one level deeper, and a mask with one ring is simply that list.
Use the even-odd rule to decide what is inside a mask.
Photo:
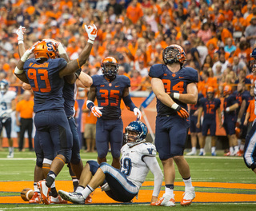
[{"label": "orange helmet of player number 93, seen from behind", "polygon": [[58,49],[52,42],[41,41],[34,47],[34,57],[38,58],[58,58]]}]

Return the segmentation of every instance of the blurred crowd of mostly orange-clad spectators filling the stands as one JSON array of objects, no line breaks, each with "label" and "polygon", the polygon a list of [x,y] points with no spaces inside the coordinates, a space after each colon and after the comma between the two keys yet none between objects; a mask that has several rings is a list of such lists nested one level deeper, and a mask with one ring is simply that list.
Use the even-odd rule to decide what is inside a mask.
[{"label": "blurred crowd of mostly orange-clad spectators filling the stands", "polygon": [[198,93],[209,86],[221,98],[223,87],[236,90],[239,82],[255,85],[250,53],[256,47],[256,1],[235,0],[3,0],[0,2],[0,80],[18,91],[14,76],[18,62],[15,31],[26,27],[24,42],[32,46],[43,38],[62,42],[71,60],[86,45],[85,24],[94,24],[98,36],[86,74],[102,74],[106,56],[117,58],[118,74],[130,78],[130,91],[151,91],[148,72],[162,63],[162,50],[182,46],[186,65],[200,73]]}]

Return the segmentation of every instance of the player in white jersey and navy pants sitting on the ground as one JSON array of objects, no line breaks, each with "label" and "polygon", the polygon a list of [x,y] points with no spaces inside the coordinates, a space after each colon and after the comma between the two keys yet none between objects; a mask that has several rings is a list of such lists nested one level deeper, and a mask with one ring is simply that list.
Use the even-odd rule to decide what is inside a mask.
[{"label": "player in white jersey and navy pants sitting on the ground", "polygon": [[130,202],[142,186],[149,170],[154,174],[154,191],[151,205],[158,200],[162,185],[162,171],[155,157],[156,149],[151,143],[145,143],[147,127],[141,121],[132,121],[126,127],[122,146],[121,169],[102,162],[87,161],[74,193],[59,190],[64,199],[76,204],[84,204],[86,197],[94,189],[102,186],[102,191],[114,201]]}]

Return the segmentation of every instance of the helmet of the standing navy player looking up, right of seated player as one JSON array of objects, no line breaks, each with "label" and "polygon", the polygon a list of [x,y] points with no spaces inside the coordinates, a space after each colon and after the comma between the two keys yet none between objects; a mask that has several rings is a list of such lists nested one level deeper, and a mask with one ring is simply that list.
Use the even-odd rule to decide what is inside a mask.
[{"label": "helmet of the standing navy player looking up, right of seated player", "polygon": [[167,64],[180,62],[181,66],[186,62],[186,54],[182,46],[170,45],[162,51],[162,61]]}]

